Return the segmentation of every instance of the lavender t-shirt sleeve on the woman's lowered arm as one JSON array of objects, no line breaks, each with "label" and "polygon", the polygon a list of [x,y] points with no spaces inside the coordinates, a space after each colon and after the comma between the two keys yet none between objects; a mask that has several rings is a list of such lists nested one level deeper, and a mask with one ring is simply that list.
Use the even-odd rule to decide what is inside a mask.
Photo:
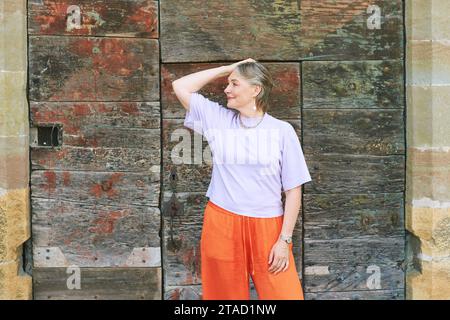
[{"label": "lavender t-shirt sleeve on the woman's lowered arm", "polygon": [[290,123],[283,136],[281,159],[281,184],[283,191],[290,190],[312,180],[297,133]]}]

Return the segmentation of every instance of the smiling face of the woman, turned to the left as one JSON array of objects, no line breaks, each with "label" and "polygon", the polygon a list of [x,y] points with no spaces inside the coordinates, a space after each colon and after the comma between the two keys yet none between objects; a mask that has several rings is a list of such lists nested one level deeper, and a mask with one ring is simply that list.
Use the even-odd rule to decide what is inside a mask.
[{"label": "smiling face of the woman, turned to the left", "polygon": [[228,86],[224,92],[227,96],[228,108],[240,110],[245,107],[250,108],[254,104],[259,89],[233,71],[228,76]]}]

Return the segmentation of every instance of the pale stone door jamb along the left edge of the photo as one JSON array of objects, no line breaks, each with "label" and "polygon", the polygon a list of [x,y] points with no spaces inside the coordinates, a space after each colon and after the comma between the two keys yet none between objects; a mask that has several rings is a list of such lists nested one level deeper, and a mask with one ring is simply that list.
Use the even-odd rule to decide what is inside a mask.
[{"label": "pale stone door jamb along the left edge of the photo", "polygon": [[23,271],[30,237],[25,0],[0,2],[0,299],[31,299]]}]

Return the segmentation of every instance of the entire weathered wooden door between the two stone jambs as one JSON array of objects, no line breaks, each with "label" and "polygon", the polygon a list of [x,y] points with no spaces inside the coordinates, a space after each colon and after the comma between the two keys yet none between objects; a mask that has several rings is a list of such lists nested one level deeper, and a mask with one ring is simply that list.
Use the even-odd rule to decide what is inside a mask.
[{"label": "entire weathered wooden door between the two stone jambs", "polygon": [[[274,75],[269,113],[313,179],[294,232],[306,298],[404,297],[403,1],[28,10],[35,298],[201,297],[210,153],[171,80],[247,57]],[[202,93],[225,104],[224,87]]]}]

